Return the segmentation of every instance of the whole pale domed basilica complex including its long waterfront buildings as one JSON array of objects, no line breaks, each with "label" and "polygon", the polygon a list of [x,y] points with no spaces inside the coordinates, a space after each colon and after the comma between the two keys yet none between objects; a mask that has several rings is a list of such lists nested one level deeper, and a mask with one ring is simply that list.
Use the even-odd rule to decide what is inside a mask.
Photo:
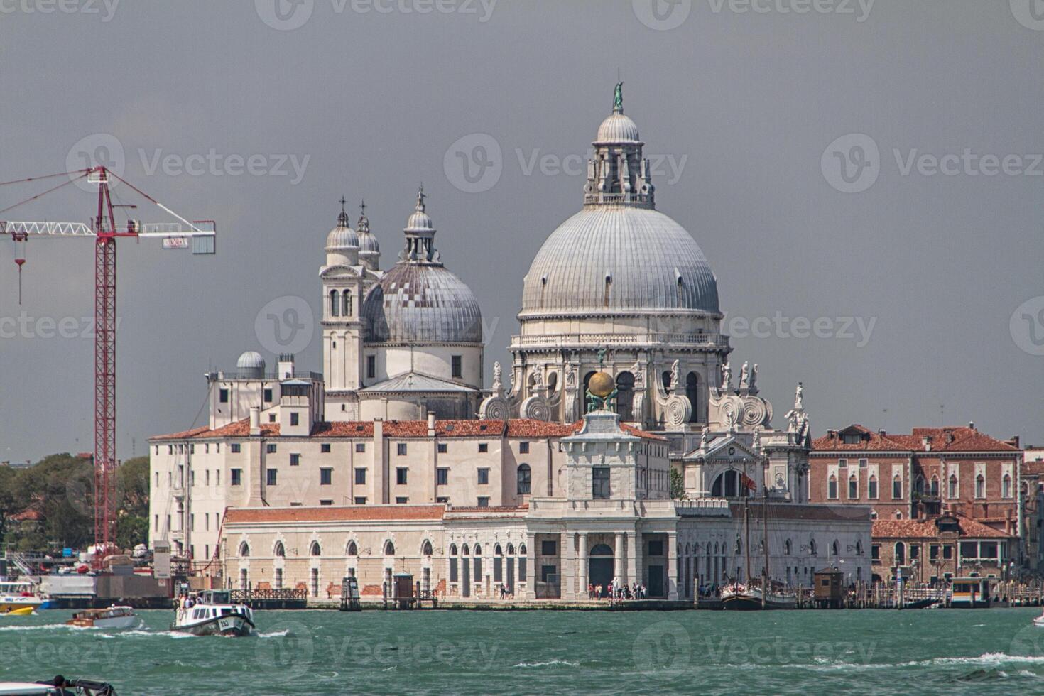
[{"label": "whole pale domed basilica complex including its long waterfront buildings", "polygon": [[151,541],[208,581],[316,597],[346,575],[388,593],[394,573],[448,599],[615,579],[691,601],[761,575],[807,587],[826,566],[869,580],[869,507],[810,502],[802,385],[776,427],[758,365],[730,362],[717,279],[656,209],[620,85],[593,146],[489,386],[479,303],[423,189],[386,268],[364,209],[354,229],[342,209],[323,371],[247,351],[209,373],[208,425],[149,440]]}]

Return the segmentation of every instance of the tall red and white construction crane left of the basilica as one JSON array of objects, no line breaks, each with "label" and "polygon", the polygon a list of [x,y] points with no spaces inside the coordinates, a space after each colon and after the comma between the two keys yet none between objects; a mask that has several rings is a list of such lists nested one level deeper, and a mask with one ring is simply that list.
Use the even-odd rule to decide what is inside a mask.
[{"label": "tall red and white construction crane left of the basilica", "polygon": [[[22,268],[26,242],[30,237],[94,239],[94,566],[100,568],[116,539],[116,240],[160,238],[163,248],[188,248],[193,254],[214,254],[217,227],[213,220],[188,221],[172,210],[134,187],[105,167],[0,182],[0,186],[26,184],[65,176],[67,181],[0,209],[0,215],[18,206],[37,200],[74,182],[98,187],[97,212],[90,224],[84,222],[25,222],[0,220],[0,235],[15,242],[18,266],[19,304],[22,302]],[[114,209],[136,209],[137,205],[113,203],[111,179],[130,190],[174,217],[176,222],[141,222],[128,219],[117,223]]]}]

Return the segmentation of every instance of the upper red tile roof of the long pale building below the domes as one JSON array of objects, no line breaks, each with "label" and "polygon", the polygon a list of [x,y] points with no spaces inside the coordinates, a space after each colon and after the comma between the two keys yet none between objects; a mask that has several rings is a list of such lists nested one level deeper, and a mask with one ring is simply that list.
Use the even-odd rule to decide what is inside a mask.
[{"label": "upper red tile roof of the long pale building below the domes", "polygon": [[[437,437],[566,437],[577,432],[583,421],[572,424],[545,423],[525,418],[511,421],[435,421]],[[666,440],[665,437],[639,430],[634,426],[621,425],[624,432],[649,440]],[[207,439],[220,437],[247,437],[250,435],[250,419],[243,418],[220,428],[194,428],[169,435],[155,435],[149,438],[156,441],[180,439]],[[261,435],[279,437],[278,423],[262,423]],[[345,421],[318,423],[312,428],[312,437],[365,437],[374,436],[373,421]],[[427,421],[384,421],[385,437],[427,437]]]}]

